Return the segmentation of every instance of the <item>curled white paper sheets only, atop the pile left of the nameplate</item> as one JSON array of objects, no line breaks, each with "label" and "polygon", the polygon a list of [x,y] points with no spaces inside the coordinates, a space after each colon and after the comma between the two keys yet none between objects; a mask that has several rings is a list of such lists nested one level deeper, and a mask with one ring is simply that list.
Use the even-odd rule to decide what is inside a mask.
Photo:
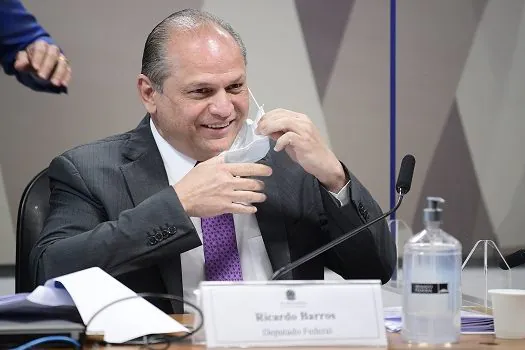
[{"label": "curled white paper sheets only, atop the pile left of the nameplate", "polygon": [[[136,296],[131,289],[98,267],[74,272],[46,282],[47,287],[63,286],[71,296],[84,324],[104,306]],[[143,298],[118,302],[98,314],[88,334],[104,334],[104,340],[122,343],[148,334],[188,332],[184,326]]]}]

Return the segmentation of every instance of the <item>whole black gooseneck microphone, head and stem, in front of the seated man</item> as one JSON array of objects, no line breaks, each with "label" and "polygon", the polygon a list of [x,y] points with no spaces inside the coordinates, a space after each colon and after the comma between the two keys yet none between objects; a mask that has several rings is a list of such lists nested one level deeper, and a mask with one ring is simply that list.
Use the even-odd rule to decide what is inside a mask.
[{"label": "whole black gooseneck microphone, head and stem, in front of the seated man", "polygon": [[403,201],[403,197],[408,193],[408,191],[410,191],[410,187],[412,185],[412,176],[414,175],[414,167],[415,167],[415,165],[416,165],[416,159],[414,158],[413,155],[407,154],[405,157],[403,157],[403,160],[401,161],[401,167],[399,169],[399,175],[397,177],[397,182],[396,182],[396,191],[397,191],[397,194],[399,195],[399,197],[398,197],[396,205],[392,209],[390,209],[389,212],[387,212],[387,213],[385,213],[385,214],[375,218],[372,221],[367,222],[364,225],[361,225],[361,226],[355,228],[354,230],[352,230],[350,232],[345,233],[344,235],[342,235],[340,237],[337,237],[333,241],[325,244],[324,246],[314,250],[313,252],[311,252],[309,254],[306,254],[302,258],[299,258],[299,259],[297,259],[295,261],[292,261],[288,265],[285,265],[285,266],[281,267],[279,270],[275,271],[275,273],[272,275],[271,280],[278,280],[278,279],[280,279],[281,277],[283,277],[285,274],[287,274],[288,272],[292,271],[296,267],[298,267],[298,266],[304,264],[305,262],[307,262],[307,261],[309,261],[309,260],[311,260],[311,259],[313,259],[313,258],[315,258],[315,257],[317,257],[317,256],[319,256],[321,254],[323,254],[327,250],[329,250],[329,249],[335,247],[336,245],[346,241],[347,239],[355,236],[359,232],[367,229],[368,227],[372,226],[376,222],[378,222],[380,220],[383,220],[384,218],[386,218],[387,216],[389,216],[390,214],[395,212],[399,208],[399,206],[401,205],[401,202]]}]

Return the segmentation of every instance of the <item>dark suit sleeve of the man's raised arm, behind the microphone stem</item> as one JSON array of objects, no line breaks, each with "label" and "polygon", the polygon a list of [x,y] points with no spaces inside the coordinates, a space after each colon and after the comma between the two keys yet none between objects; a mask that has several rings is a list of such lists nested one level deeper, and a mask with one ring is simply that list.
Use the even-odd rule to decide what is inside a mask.
[{"label": "dark suit sleeve of the man's raised arm, behind the microphone stem", "polygon": [[[350,178],[348,191],[351,200],[347,205],[341,207],[321,186],[325,216],[321,221],[325,243],[382,215],[381,208],[368,190],[344,168]],[[325,259],[326,265],[345,279],[380,279],[382,283],[388,282],[394,271],[397,252],[386,220],[334,247],[327,252]]]}]

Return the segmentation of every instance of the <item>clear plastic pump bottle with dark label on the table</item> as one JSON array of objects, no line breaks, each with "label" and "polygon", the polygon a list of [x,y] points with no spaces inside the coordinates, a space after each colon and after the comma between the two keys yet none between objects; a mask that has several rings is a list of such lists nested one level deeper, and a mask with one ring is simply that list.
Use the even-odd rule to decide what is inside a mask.
[{"label": "clear plastic pump bottle with dark label on the table", "polygon": [[425,229],[404,247],[401,334],[409,343],[455,343],[461,333],[461,243],[441,229],[445,201],[427,200]]}]

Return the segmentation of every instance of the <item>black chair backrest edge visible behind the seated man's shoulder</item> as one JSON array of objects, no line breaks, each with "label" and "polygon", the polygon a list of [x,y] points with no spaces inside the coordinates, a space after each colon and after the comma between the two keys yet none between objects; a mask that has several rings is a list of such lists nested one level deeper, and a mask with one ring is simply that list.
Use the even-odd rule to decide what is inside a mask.
[{"label": "black chair backrest edge visible behind the seated man's shoulder", "polygon": [[29,254],[49,213],[49,179],[47,168],[26,186],[18,206],[16,225],[15,292],[32,292],[36,287],[29,268]]}]

